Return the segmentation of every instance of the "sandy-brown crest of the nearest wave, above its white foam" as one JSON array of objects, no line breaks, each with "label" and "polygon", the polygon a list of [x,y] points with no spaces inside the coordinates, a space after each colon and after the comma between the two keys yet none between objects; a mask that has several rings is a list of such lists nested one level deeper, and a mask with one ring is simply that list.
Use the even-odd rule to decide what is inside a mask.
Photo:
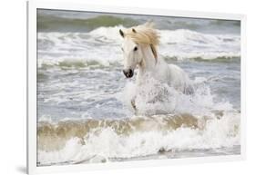
[{"label": "sandy-brown crest of the nearest wave, above its white foam", "polygon": [[[136,131],[150,131],[152,127],[158,128],[158,131],[173,131],[181,126],[201,128],[202,123],[189,114],[133,116],[122,120],[65,119],[61,122],[51,122],[48,119],[41,119],[37,128],[38,148],[45,151],[60,150],[71,138],[77,137],[83,140],[88,134],[108,128],[111,128],[118,135],[127,136]],[[52,140],[50,141],[51,144],[48,144],[49,140]]]}]

